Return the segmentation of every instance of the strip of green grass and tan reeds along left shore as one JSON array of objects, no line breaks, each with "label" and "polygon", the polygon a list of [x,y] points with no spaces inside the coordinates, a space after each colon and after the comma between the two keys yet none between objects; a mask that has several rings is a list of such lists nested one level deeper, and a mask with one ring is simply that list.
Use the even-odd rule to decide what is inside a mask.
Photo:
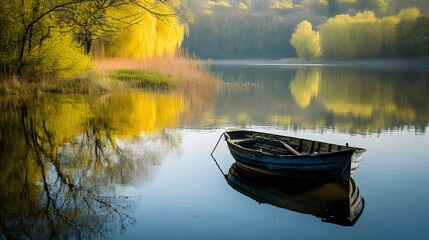
[{"label": "strip of green grass and tan reeds along left shore", "polygon": [[0,95],[90,94],[142,89],[180,89],[190,93],[213,91],[219,85],[219,80],[206,66],[185,57],[106,58],[94,63],[94,69],[86,76],[70,79],[35,73],[26,73],[20,78],[0,76]]}]

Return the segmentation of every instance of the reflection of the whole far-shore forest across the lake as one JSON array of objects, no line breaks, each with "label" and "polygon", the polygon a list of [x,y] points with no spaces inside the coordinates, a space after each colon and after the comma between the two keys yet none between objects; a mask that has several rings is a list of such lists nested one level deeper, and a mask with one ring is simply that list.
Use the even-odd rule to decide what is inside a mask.
[{"label": "reflection of the whole far-shore forest across the lake", "polygon": [[[230,86],[190,127],[252,126],[379,133],[428,125],[429,71],[382,66],[214,65]],[[248,88],[239,88],[240,81]]]}]

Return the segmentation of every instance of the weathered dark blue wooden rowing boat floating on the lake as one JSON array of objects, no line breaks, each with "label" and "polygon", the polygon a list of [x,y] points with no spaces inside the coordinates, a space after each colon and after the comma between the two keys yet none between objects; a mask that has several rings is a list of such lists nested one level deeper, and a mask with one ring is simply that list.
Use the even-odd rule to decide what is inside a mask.
[{"label": "weathered dark blue wooden rowing boat floating on the lake", "polygon": [[335,178],[348,183],[366,151],[348,144],[343,146],[249,130],[231,129],[224,134],[238,166],[281,177]]}]

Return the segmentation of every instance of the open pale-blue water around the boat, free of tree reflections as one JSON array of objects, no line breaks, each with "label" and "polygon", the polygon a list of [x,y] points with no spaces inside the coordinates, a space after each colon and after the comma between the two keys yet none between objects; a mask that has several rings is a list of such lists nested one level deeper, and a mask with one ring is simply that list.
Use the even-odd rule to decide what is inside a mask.
[{"label": "open pale-blue water around the boat, free of tree reflections", "polygon": [[[414,132],[350,136],[338,132],[284,131],[273,133],[333,142],[352,142],[367,149],[353,178],[365,199],[364,211],[352,227],[324,223],[269,204],[259,204],[232,189],[208,156],[222,130],[179,130],[180,153],[166,156],[153,181],[128,194],[138,200],[137,223],[124,238],[207,239],[424,239],[429,183],[427,136]],[[403,141],[413,142],[413,151]],[[196,151],[195,149],[199,149]],[[385,151],[390,149],[390,151]],[[421,149],[421,150],[418,150]],[[214,153],[224,171],[234,160],[224,141]]]}]

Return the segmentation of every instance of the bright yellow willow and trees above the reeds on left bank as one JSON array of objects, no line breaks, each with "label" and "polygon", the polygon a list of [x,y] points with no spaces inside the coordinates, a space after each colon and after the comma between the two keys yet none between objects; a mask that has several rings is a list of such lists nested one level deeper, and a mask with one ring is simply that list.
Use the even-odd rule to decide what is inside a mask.
[{"label": "bright yellow willow and trees above the reeds on left bank", "polygon": [[97,54],[174,54],[187,19],[176,0],[6,0],[0,5],[0,69],[70,78],[92,71]]}]

